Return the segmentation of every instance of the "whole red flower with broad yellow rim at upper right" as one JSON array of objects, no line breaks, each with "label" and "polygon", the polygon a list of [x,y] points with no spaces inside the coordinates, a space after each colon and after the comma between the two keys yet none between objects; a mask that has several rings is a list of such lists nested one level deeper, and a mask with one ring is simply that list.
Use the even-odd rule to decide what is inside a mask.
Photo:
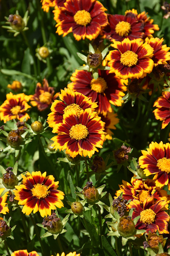
[{"label": "whole red flower with broad yellow rim at upper right", "polygon": [[140,78],[145,73],[151,73],[154,66],[150,58],[153,48],[147,42],[143,43],[140,38],[131,41],[125,38],[122,42],[114,41],[111,46],[117,50],[110,51],[106,56],[110,73],[114,72],[123,79]]}]

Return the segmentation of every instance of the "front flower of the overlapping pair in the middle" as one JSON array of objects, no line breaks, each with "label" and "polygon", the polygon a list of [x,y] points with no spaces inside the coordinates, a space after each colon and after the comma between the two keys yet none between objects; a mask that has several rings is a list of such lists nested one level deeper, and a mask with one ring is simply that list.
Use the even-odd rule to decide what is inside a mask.
[{"label": "front flower of the overlapping pair in the middle", "polygon": [[[63,115],[63,123],[56,124],[55,132],[58,133],[51,140],[55,150],[66,149],[66,154],[75,157],[91,157],[97,148],[102,148],[105,140],[104,123],[96,116],[91,108],[81,110],[79,118],[74,109]],[[96,148],[97,147],[97,148]]]}]

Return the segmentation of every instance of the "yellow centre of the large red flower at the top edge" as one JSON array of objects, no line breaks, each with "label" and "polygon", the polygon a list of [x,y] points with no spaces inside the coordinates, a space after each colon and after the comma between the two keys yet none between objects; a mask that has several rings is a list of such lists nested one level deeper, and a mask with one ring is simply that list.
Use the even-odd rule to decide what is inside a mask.
[{"label": "yellow centre of the large red flower at the top edge", "polygon": [[91,15],[85,10],[77,11],[74,15],[74,21],[77,25],[87,26],[91,22]]}]

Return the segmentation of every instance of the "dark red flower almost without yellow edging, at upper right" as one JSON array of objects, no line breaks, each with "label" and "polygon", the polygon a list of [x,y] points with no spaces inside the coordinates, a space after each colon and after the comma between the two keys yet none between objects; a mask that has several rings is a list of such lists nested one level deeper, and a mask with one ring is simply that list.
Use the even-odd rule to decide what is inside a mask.
[{"label": "dark red flower almost without yellow edging, at upper right", "polygon": [[144,38],[143,32],[144,24],[142,21],[138,21],[136,17],[124,16],[120,14],[108,14],[109,25],[103,28],[103,38],[116,41],[123,41],[124,38],[130,40],[136,38]]}]

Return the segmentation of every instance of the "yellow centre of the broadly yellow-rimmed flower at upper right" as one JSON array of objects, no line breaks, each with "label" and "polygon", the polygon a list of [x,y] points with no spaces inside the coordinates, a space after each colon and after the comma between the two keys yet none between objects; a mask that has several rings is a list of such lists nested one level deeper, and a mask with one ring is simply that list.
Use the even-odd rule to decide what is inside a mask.
[{"label": "yellow centre of the broadly yellow-rimmed flower at upper right", "polygon": [[120,63],[122,63],[124,66],[131,67],[133,65],[136,65],[138,62],[138,54],[132,51],[126,51],[121,54],[120,57]]}]

